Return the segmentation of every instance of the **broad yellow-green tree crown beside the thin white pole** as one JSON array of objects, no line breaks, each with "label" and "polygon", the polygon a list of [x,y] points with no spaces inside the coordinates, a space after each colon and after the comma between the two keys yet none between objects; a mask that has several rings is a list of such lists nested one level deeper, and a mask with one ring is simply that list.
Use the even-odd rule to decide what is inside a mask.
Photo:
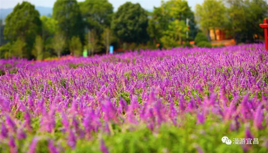
[{"label": "broad yellow-green tree crown beside the thin white pole", "polygon": [[[182,41],[186,40],[185,32],[188,30],[186,18],[189,19],[190,39],[196,34],[194,15],[187,1],[163,1],[160,7],[154,8],[150,16],[147,28],[148,34],[154,43],[161,41],[164,48],[177,46],[178,44],[174,41],[178,40],[179,44],[182,45]],[[172,39],[172,42],[168,42],[168,38]]]}]

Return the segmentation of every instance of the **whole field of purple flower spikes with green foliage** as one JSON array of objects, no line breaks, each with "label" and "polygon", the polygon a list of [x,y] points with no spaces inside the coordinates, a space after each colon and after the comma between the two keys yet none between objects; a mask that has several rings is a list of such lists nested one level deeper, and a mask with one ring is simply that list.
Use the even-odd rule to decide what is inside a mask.
[{"label": "whole field of purple flower spikes with green foliage", "polygon": [[1,72],[1,152],[268,151],[263,44],[1,59]]}]

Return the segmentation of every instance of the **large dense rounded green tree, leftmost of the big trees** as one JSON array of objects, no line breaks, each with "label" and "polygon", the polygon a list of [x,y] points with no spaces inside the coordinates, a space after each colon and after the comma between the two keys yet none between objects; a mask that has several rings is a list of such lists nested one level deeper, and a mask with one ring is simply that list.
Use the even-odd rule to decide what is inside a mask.
[{"label": "large dense rounded green tree, leftmost of the big trees", "polygon": [[[4,35],[11,44],[17,41],[18,38],[26,43],[24,57],[31,58],[32,46],[35,41],[35,36],[41,33],[41,21],[39,12],[34,5],[23,1],[17,4],[12,13],[5,19]],[[18,43],[17,42],[17,43]]]}]

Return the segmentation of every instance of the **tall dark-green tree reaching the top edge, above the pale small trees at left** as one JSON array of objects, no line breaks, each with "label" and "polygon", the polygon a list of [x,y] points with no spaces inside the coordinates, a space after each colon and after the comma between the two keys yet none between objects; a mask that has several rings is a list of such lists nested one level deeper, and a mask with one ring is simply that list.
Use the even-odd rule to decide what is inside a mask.
[{"label": "tall dark-green tree reaching the top edge, above the pale small trees at left", "polygon": [[53,6],[52,17],[58,21],[60,31],[68,40],[73,36],[83,39],[84,25],[77,1],[57,0]]}]

